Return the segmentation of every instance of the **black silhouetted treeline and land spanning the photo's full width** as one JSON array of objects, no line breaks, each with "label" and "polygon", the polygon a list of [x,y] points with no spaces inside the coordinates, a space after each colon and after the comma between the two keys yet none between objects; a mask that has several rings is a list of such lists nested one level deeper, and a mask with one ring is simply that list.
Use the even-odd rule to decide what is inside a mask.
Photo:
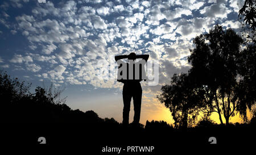
[{"label": "black silhouetted treeline and land spanning the photo's full width", "polygon": [[237,123],[229,127],[202,118],[195,127],[186,130],[154,120],[147,121],[144,127],[130,124],[124,128],[113,118],[99,118],[93,111],[72,110],[65,104],[65,98],[60,99],[59,90],[36,87],[35,93],[30,93],[30,85],[6,73],[0,74],[5,144],[38,144],[39,137],[46,137],[48,145],[81,146],[93,153],[102,153],[101,148],[106,145],[155,146],[156,152],[165,152],[170,145],[208,144],[210,136],[216,136],[220,144],[230,140],[237,144],[238,140],[246,141],[246,137],[254,136],[255,118],[250,124]]}]

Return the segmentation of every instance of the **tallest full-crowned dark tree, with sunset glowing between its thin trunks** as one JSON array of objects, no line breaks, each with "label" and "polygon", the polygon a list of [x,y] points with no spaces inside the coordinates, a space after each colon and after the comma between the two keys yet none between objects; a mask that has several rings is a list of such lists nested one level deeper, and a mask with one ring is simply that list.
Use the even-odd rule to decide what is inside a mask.
[{"label": "tallest full-crowned dark tree, with sunset glowing between its thin trunks", "polygon": [[213,97],[205,108],[217,112],[221,124],[222,114],[228,125],[230,117],[240,112],[238,107],[241,102],[236,90],[239,86],[237,60],[242,42],[242,38],[233,30],[224,31],[216,25],[209,33],[193,40],[196,48],[191,50],[188,57],[192,64],[189,74],[195,78],[197,85],[207,86],[209,98]]}]

